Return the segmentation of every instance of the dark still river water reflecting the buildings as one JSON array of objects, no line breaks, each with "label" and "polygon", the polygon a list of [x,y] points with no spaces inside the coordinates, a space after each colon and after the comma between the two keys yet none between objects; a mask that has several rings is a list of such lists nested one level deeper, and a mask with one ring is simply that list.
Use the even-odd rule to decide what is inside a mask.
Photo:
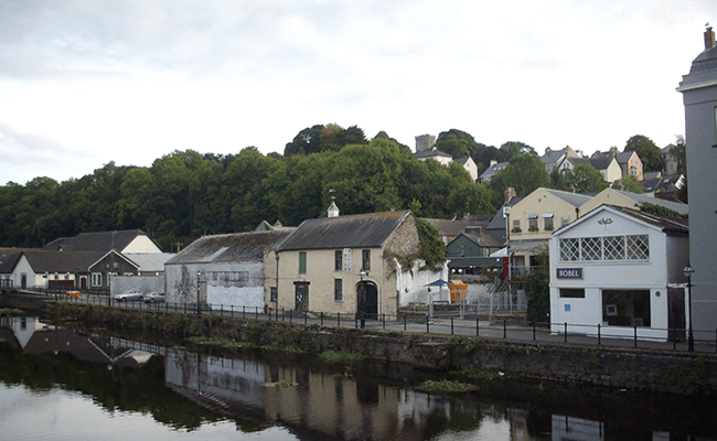
[{"label": "dark still river water reflecting the buildings", "polygon": [[514,380],[431,395],[398,364],[206,352],[0,322],[2,440],[717,440],[715,398]]}]

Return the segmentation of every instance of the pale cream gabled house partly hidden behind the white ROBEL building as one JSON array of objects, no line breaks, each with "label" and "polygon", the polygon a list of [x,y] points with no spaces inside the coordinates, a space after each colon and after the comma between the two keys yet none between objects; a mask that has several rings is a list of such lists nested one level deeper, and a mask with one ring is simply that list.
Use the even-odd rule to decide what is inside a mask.
[{"label": "pale cream gabled house partly hidden behind the white ROBEL building", "polygon": [[536,256],[553,237],[553,232],[578,218],[579,207],[590,196],[539,187],[506,214],[511,278],[529,273],[538,266]]}]

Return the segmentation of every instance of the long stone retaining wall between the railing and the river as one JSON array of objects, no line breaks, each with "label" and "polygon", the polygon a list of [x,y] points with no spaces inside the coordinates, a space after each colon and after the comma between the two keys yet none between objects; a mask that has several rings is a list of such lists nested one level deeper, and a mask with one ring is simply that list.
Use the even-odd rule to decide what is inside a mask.
[{"label": "long stone retaining wall between the railing and the river", "polygon": [[358,330],[99,305],[58,308],[65,318],[86,325],[113,329],[120,323],[122,329],[139,332],[221,336],[312,353],[351,351],[417,369],[491,368],[531,379],[681,395],[717,392],[716,354]]}]

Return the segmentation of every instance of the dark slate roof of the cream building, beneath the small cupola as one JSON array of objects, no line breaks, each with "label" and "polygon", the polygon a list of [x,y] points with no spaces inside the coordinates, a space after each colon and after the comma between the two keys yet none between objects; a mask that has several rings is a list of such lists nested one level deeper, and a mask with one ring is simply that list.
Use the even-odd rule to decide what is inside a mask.
[{"label": "dark slate roof of the cream building, beneath the small cupola", "polygon": [[378,248],[408,216],[411,213],[406,209],[308,219],[299,225],[279,250]]}]

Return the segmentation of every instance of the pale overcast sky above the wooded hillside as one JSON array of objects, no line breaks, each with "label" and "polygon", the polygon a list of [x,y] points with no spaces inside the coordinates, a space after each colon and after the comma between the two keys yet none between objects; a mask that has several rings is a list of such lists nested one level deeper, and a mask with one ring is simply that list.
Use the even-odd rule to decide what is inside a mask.
[{"label": "pale overcast sky above the wooded hillside", "polygon": [[0,0],[0,184],[303,128],[589,154],[684,132],[717,1]]}]

